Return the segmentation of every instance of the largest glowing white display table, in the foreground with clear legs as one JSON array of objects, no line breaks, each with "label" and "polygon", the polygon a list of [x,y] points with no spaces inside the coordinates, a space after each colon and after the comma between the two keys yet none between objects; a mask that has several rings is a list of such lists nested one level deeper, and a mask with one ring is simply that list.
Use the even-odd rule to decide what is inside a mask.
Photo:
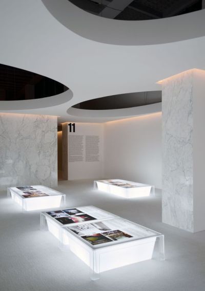
[{"label": "largest glowing white display table, in the foreground with clear legs", "polygon": [[101,272],[152,259],[155,247],[159,259],[165,259],[162,234],[94,206],[42,212],[40,228],[47,226],[59,239],[61,249],[69,247],[90,267],[92,280]]}]

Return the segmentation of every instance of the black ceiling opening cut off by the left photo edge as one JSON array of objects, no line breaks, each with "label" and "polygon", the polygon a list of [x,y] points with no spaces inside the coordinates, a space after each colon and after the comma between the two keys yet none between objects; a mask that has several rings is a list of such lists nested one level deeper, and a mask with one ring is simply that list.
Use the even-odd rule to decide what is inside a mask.
[{"label": "black ceiling opening cut off by the left photo edge", "polygon": [[50,78],[0,64],[1,101],[38,99],[67,90],[68,87]]}]

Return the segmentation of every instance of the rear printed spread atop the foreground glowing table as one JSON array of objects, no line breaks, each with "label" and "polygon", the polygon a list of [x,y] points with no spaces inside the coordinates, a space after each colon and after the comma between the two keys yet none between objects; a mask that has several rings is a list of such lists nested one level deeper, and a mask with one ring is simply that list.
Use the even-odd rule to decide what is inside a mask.
[{"label": "rear printed spread atop the foreground glowing table", "polygon": [[46,213],[56,219],[62,225],[115,217],[114,214],[107,213],[106,211],[98,209],[94,206],[69,208],[63,210],[49,211]]}]

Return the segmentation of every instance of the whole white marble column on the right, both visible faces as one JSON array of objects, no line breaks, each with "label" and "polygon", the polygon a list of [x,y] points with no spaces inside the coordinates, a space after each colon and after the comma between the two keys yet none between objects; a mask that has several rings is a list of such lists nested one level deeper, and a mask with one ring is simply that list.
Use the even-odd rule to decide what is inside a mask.
[{"label": "whole white marble column on the right, both visible faces", "polygon": [[162,221],[205,230],[205,71],[189,70],[162,84]]}]

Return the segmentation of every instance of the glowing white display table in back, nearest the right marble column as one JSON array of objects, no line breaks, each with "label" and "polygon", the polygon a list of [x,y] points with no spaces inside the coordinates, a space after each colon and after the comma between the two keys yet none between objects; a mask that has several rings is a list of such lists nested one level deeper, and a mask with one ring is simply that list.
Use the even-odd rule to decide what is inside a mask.
[{"label": "glowing white display table in back, nearest the right marble column", "polygon": [[154,195],[154,186],[121,179],[94,181],[94,189],[116,194],[125,198]]}]

